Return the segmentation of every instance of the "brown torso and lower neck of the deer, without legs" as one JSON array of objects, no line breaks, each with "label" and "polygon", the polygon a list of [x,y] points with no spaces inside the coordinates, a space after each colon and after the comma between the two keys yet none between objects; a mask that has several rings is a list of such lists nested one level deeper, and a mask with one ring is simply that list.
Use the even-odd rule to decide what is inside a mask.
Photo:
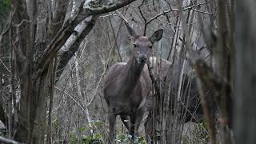
[{"label": "brown torso and lower neck of the deer, without legs", "polygon": [[111,66],[105,82],[105,99],[113,114],[134,114],[138,106],[143,108],[143,102],[151,90],[147,66],[136,63],[134,58],[127,63],[118,62]]}]

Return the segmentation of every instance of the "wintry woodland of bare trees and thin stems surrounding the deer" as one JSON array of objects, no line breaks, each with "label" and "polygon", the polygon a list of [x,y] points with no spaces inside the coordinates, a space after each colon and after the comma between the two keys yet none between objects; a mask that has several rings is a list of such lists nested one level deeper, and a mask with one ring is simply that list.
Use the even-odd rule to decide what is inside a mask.
[{"label": "wintry woodland of bare trees and thin stems surrounding the deer", "polygon": [[[125,21],[147,36],[164,30],[150,55],[171,64],[166,71],[161,62],[154,66],[154,143],[256,143],[255,6],[1,0],[0,143],[106,143],[102,80],[129,58]],[[194,122],[185,123],[187,115]],[[126,132],[118,119],[115,142],[129,143]],[[146,143],[143,125],[139,135]]]}]

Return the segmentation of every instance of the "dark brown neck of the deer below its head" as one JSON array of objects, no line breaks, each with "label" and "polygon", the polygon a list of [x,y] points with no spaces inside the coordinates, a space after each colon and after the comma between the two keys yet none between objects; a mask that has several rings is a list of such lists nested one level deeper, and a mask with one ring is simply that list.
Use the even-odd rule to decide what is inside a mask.
[{"label": "dark brown neck of the deer below its head", "polygon": [[129,58],[126,64],[126,74],[123,75],[123,82],[125,85],[122,86],[122,92],[130,94],[130,92],[134,90],[144,66],[145,63],[138,63],[134,56]]}]

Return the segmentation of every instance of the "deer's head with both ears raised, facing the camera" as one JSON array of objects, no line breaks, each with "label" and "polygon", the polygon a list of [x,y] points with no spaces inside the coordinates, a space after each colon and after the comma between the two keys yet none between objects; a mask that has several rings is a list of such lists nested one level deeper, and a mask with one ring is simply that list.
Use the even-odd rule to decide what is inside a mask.
[{"label": "deer's head with both ears raised, facing the camera", "polygon": [[134,29],[129,26],[128,23],[126,23],[126,28],[134,42],[132,55],[135,57],[138,63],[144,64],[148,58],[148,54],[150,54],[154,43],[158,42],[162,38],[163,30],[160,29],[155,31],[154,34],[152,34],[152,36],[148,38],[146,36],[137,34]]}]

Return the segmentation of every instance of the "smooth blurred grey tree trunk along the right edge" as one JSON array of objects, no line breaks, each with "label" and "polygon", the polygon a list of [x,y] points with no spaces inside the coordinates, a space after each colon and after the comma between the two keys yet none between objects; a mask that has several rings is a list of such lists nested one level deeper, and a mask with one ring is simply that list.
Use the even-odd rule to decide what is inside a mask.
[{"label": "smooth blurred grey tree trunk along the right edge", "polygon": [[234,134],[236,143],[256,143],[256,19],[254,0],[237,0]]}]

